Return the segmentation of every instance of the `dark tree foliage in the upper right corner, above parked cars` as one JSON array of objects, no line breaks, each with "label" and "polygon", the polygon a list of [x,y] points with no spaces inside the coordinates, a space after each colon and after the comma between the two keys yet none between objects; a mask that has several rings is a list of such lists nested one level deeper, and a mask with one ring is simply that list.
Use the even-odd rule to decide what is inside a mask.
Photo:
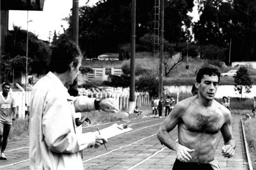
[{"label": "dark tree foliage in the upper right corner, above parked cars", "polygon": [[231,42],[231,61],[254,60],[256,55],[255,0],[197,0],[200,20],[193,25],[200,45],[216,45],[224,52]]}]

